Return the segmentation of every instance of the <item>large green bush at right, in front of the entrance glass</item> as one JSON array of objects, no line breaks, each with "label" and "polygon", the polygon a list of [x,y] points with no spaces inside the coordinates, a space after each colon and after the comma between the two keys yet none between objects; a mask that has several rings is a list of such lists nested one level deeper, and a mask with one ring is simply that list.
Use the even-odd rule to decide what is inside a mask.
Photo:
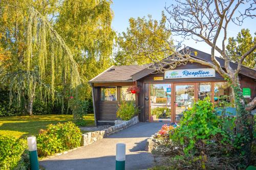
[{"label": "large green bush at right, in front of the entrance glass", "polygon": [[169,131],[168,140],[159,138],[163,142],[153,153],[167,169],[236,169],[244,155],[236,154],[233,126],[234,119],[214,114],[209,98],[199,100],[184,113],[180,126]]}]

